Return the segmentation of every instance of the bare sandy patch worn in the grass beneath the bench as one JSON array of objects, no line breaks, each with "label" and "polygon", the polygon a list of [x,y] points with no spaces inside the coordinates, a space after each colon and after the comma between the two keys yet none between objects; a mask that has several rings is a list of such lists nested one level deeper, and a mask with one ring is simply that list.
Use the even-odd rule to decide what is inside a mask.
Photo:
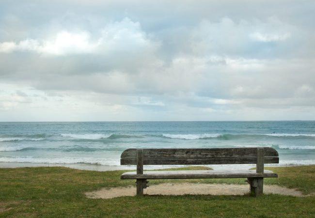
[{"label": "bare sandy patch worn in the grass beneath the bench", "polygon": [[[159,185],[152,185],[144,189],[144,194],[147,195],[244,195],[249,193],[249,185],[229,185],[229,184],[194,184],[181,183],[171,184],[164,183]],[[264,193],[281,194],[297,197],[305,197],[300,191],[280,187],[276,185],[264,185]],[[115,187],[102,188],[100,190],[87,192],[85,195],[88,198],[102,198],[109,199],[121,196],[135,196],[136,187]],[[310,196],[310,195],[308,195]]]}]

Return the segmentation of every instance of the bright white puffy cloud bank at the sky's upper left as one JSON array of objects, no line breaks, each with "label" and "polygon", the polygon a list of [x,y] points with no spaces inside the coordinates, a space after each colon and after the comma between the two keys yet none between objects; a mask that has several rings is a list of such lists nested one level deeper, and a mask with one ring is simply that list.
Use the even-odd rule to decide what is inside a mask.
[{"label": "bright white puffy cloud bank at the sky's upper left", "polygon": [[[119,22],[110,22],[99,32],[99,37],[91,39],[88,31],[59,31],[49,39],[25,39],[20,42],[0,43],[0,53],[14,51],[34,51],[41,54],[67,55],[89,53],[112,53],[126,51],[135,53],[155,49],[158,43],[149,40],[141,30],[139,22],[124,18]],[[97,34],[96,34],[97,35]]]}]

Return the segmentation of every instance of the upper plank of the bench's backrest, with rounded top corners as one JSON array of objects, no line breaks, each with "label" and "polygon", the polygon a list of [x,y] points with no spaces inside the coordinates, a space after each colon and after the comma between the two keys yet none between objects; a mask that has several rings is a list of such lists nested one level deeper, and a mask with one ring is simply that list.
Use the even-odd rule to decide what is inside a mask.
[{"label": "upper plank of the bench's backrest, with rounded top corners", "polygon": [[[279,156],[278,152],[270,147],[265,147],[265,156]],[[125,150],[121,158],[136,158],[137,149]],[[257,156],[257,148],[196,148],[196,149],[143,149],[144,158],[219,158],[219,157],[254,157]]]}]

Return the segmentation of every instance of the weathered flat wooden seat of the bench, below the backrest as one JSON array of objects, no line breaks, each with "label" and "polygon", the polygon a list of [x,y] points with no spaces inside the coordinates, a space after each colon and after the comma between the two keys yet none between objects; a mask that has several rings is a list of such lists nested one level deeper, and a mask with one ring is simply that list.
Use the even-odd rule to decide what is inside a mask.
[{"label": "weathered flat wooden seat of the bench, below the backrest", "polygon": [[252,178],[252,177],[278,177],[277,173],[265,170],[237,170],[237,171],[143,171],[137,174],[136,171],[125,172],[121,179],[206,179],[206,178]]}]

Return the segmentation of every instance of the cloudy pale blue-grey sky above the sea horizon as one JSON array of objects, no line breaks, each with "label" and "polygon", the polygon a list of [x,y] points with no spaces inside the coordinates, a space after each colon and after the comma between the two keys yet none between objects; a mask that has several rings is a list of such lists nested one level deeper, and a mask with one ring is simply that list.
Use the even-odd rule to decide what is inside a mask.
[{"label": "cloudy pale blue-grey sky above the sea horizon", "polygon": [[0,121],[315,120],[314,0],[0,5]]}]

